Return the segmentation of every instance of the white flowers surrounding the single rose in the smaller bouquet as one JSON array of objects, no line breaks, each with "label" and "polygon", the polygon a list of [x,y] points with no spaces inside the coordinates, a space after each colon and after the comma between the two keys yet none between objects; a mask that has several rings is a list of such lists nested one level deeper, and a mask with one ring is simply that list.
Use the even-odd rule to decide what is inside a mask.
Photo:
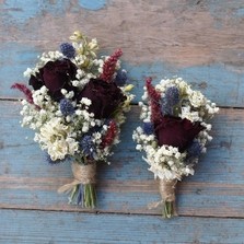
[{"label": "white flowers surrounding the single rose in the smaller bouquet", "polygon": [[[200,123],[205,129],[195,138],[194,142],[196,147],[191,150],[195,150],[199,154],[206,152],[206,143],[212,140],[212,137],[209,136],[211,124],[207,121],[218,113],[219,108],[199,91],[191,90],[190,85],[182,78],[162,80],[155,85],[155,90],[162,97],[162,106],[166,103],[163,101],[164,97],[169,98],[165,94],[170,88],[174,88],[174,91],[171,90],[172,93],[167,94],[167,96],[171,96],[170,100],[172,101],[177,101],[174,104],[174,109],[172,109],[173,114],[170,115],[182,119],[186,118],[191,123]],[[173,94],[175,90],[177,91],[176,95]],[[172,97],[174,95],[176,98]],[[152,111],[146,86],[142,101],[139,103],[141,107],[140,119],[144,124],[151,124],[153,127],[151,123]],[[163,144],[160,147],[154,135],[154,127],[151,130],[150,132],[142,127],[138,127],[132,135],[132,139],[137,142],[136,149],[146,152],[146,158],[143,159],[150,165],[149,171],[153,172],[155,177],[166,181],[181,179],[183,176],[194,174],[193,167],[198,162],[199,154],[190,156],[187,150],[179,152],[178,148],[172,146]]]}]

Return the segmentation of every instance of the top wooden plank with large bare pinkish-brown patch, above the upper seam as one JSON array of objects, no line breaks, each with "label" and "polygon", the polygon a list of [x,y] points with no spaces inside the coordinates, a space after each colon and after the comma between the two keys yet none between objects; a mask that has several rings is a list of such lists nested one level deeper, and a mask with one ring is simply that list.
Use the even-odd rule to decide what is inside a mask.
[{"label": "top wooden plank with large bare pinkish-brown patch, above the upper seam", "polygon": [[97,37],[106,54],[124,50],[136,102],[144,77],[179,75],[219,105],[243,107],[243,9],[241,0],[5,0],[0,3],[0,96],[20,97],[9,86],[23,80],[35,57],[82,30]]}]

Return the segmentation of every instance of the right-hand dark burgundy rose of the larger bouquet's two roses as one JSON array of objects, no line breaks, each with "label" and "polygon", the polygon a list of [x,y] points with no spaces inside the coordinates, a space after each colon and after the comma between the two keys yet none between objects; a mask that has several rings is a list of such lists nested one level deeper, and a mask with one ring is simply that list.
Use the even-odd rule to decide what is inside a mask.
[{"label": "right-hand dark burgundy rose of the larger bouquet's two roses", "polygon": [[125,95],[115,82],[91,79],[80,92],[78,100],[86,97],[92,101],[89,112],[95,118],[111,118],[118,105],[125,101]]}]

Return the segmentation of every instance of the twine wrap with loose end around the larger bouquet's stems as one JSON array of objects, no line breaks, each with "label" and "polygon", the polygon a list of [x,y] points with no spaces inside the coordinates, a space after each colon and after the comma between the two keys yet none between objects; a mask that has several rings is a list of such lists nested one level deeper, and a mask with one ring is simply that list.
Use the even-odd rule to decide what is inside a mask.
[{"label": "twine wrap with loose end around the larger bouquet's stems", "polygon": [[71,191],[72,188],[78,184],[95,184],[96,163],[83,165],[74,162],[72,163],[72,172],[74,177],[73,182],[61,186],[58,189],[59,194]]}]

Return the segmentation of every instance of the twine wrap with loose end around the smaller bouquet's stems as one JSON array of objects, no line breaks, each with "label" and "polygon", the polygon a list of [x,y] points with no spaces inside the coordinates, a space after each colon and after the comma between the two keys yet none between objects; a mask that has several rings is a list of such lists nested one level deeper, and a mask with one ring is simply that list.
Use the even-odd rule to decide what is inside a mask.
[{"label": "twine wrap with loose end around the smaller bouquet's stems", "polygon": [[[175,205],[176,184],[177,184],[177,179],[172,179],[172,181],[160,179],[159,189],[160,189],[160,195],[162,197],[162,200],[149,204],[148,208],[154,209],[161,205],[164,205],[165,202],[173,202],[173,205]],[[174,214],[175,216],[177,214],[175,211],[175,206],[174,206]]]}]

